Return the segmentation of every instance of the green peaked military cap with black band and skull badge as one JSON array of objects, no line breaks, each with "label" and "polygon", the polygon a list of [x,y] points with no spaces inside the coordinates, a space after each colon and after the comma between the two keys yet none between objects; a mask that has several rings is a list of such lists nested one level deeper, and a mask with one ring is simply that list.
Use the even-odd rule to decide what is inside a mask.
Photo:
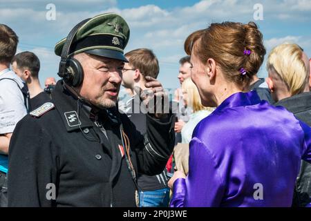
[{"label": "green peaked military cap with black band and skull badge", "polygon": [[[124,57],[124,48],[129,41],[129,36],[129,26],[120,15],[114,13],[97,15],[77,30],[68,57],[86,52],[127,62]],[[57,42],[56,55],[62,55],[65,42],[66,38]]]}]

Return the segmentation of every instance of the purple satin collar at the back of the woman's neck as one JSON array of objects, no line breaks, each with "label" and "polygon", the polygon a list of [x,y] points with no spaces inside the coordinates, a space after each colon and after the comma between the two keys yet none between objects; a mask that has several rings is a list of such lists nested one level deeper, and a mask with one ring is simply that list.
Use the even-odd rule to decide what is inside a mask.
[{"label": "purple satin collar at the back of the woman's neck", "polygon": [[254,104],[259,104],[261,99],[258,97],[256,90],[249,91],[247,93],[238,92],[230,95],[221,103],[217,111],[223,111],[227,108],[232,108],[235,106],[250,106]]}]

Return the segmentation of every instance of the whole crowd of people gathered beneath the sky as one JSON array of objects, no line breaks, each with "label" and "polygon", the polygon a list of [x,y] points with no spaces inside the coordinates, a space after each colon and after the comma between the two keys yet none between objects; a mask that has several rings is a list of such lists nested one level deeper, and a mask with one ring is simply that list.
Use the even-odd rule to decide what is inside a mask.
[{"label": "whole crowd of people gathered beneath the sky", "polygon": [[0,24],[0,206],[311,206],[303,48],[273,48],[259,78],[256,23],[211,23],[185,39],[169,100],[153,50],[124,53],[129,33],[114,13],[77,23],[41,88]]}]

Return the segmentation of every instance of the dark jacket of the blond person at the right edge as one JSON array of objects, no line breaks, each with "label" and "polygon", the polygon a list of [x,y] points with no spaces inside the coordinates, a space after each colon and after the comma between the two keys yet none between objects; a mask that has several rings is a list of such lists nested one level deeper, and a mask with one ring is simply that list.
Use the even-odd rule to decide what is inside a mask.
[{"label": "dark jacket of the blond person at the right edge", "polygon": [[[283,106],[292,112],[296,118],[311,126],[311,92],[301,93],[274,104]],[[296,180],[292,206],[305,206],[311,200],[311,164],[301,161],[301,169]]]}]

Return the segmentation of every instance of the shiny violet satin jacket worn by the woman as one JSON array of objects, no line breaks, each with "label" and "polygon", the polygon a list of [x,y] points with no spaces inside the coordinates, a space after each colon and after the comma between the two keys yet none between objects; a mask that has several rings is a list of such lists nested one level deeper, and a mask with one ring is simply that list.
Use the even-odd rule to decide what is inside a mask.
[{"label": "shiny violet satin jacket worn by the woman", "polygon": [[291,206],[301,158],[311,162],[308,125],[255,91],[235,93],[196,126],[171,206]]}]

